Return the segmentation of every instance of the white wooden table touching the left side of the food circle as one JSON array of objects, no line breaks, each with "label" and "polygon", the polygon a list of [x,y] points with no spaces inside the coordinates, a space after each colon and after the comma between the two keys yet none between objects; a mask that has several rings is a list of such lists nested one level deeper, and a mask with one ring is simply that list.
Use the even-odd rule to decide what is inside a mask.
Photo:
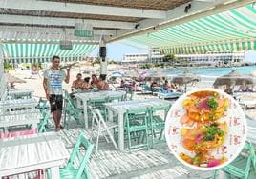
[{"label": "white wooden table touching the left side of the food circle", "polygon": [[123,115],[127,109],[147,109],[156,106],[168,107],[170,105],[169,101],[156,98],[106,103],[104,106],[109,111],[109,119],[113,119],[113,113],[118,115],[118,149],[124,150]]}]

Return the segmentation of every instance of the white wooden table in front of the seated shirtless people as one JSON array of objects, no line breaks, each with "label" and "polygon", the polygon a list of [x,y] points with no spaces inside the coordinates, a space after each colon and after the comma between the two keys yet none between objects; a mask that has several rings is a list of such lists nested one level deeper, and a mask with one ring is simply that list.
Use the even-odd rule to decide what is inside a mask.
[{"label": "white wooden table in front of the seated shirtless people", "polygon": [[107,97],[121,97],[125,95],[125,91],[97,91],[97,92],[85,92],[74,94],[76,98],[77,108],[83,109],[84,111],[84,124],[85,129],[88,128],[88,113],[87,113],[87,102],[89,100],[96,99],[107,99]]}]

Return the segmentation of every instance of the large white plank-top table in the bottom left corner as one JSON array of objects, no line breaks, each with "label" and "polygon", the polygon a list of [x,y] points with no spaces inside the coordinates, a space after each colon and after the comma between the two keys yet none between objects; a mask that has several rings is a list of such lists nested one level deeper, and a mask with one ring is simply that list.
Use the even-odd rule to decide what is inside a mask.
[{"label": "large white plank-top table in the bottom left corner", "polygon": [[0,140],[0,178],[37,169],[51,169],[59,179],[59,166],[69,157],[55,132]]}]

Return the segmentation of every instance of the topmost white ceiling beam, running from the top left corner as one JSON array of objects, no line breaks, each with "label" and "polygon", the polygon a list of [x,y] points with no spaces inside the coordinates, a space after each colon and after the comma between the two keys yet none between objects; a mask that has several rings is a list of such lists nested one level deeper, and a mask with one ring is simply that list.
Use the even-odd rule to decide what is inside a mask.
[{"label": "topmost white ceiling beam, running from the top left corner", "polygon": [[166,18],[164,10],[143,10],[131,8],[117,8],[110,6],[96,6],[75,3],[62,3],[40,0],[0,0],[0,8],[18,10],[42,10],[54,12],[84,13],[95,15],[113,15],[139,18]]}]

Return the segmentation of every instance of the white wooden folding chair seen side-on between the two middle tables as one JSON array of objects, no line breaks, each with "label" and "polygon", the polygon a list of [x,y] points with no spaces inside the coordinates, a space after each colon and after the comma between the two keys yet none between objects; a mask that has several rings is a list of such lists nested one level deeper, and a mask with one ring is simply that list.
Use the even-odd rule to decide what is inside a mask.
[{"label": "white wooden folding chair seen side-on between the two middle tables", "polygon": [[109,143],[110,139],[115,149],[117,149],[117,143],[111,132],[111,129],[116,129],[118,127],[117,123],[112,122],[110,120],[105,122],[99,109],[93,109],[92,107],[89,107],[89,109],[93,114],[92,128],[96,130],[96,151],[98,149],[98,140],[100,136],[104,136],[107,143]]}]

